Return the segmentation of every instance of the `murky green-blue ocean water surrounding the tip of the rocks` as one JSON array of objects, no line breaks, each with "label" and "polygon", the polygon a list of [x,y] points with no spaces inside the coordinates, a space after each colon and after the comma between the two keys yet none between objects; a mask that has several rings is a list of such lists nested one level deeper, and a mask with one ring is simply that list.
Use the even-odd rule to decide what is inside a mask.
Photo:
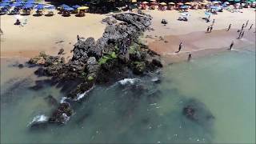
[{"label": "murky green-blue ocean water surrounding the tip of the rocks", "polygon": [[[62,126],[30,129],[61,101],[58,86],[31,90],[35,68],[1,61],[1,143],[253,143],[255,52],[231,51],[166,66],[160,74],[95,86]],[[154,82],[159,77],[161,82]],[[198,120],[182,114],[197,107]],[[46,116],[46,117],[45,117]],[[211,116],[210,118],[208,116]]]}]

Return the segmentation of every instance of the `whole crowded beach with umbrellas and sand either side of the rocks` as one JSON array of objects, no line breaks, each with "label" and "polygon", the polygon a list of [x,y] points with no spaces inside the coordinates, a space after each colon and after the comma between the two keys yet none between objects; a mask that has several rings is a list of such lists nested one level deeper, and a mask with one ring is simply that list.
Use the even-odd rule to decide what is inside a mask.
[{"label": "whole crowded beach with umbrellas and sand either side of the rocks", "polygon": [[[70,51],[77,41],[77,35],[83,38],[100,38],[106,27],[102,19],[109,16],[86,13],[89,11],[88,5],[53,6],[49,2],[6,0],[2,1],[0,6],[2,57],[30,58],[40,51],[57,54],[61,48],[66,52]],[[253,0],[185,3],[133,1],[126,6],[118,8],[119,11],[116,13],[128,12],[128,8],[134,8],[133,11],[141,9],[153,17],[153,29],[144,34],[143,40],[148,44],[151,43],[150,47],[153,50],[163,55],[170,55],[174,59],[187,56],[187,52],[193,50],[228,47],[233,41],[234,47],[241,47],[242,43],[247,41],[251,44],[255,43]],[[162,23],[162,20],[166,23]],[[247,21],[244,38],[237,39],[239,33],[234,31],[241,29],[242,24]],[[230,24],[230,31],[224,32]],[[207,27],[211,25],[213,25],[212,33],[205,33]],[[193,42],[191,37],[194,38]],[[180,42],[186,47],[182,49],[186,53],[171,54],[178,50]],[[66,54],[70,55],[70,53]]]}]

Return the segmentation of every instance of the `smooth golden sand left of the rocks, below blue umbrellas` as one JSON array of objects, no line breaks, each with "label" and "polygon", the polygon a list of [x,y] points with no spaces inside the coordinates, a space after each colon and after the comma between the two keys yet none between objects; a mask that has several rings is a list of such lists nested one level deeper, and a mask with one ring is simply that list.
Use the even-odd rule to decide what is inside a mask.
[{"label": "smooth golden sand left of the rocks, below blue umbrellas", "polygon": [[22,56],[32,57],[40,51],[47,54],[58,54],[63,48],[66,56],[77,42],[77,35],[98,39],[102,36],[106,25],[101,14],[86,14],[78,18],[72,14],[62,17],[55,12],[53,17],[23,16],[22,22],[27,19],[25,26],[14,26],[15,18],[11,15],[1,16],[1,57]]}]

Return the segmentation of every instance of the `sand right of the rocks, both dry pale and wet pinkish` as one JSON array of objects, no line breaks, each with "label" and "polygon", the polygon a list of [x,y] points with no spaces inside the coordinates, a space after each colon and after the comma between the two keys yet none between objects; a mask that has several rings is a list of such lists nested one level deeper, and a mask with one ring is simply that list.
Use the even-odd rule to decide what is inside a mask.
[{"label": "sand right of the rocks, both dry pale and wet pinkish", "polygon": [[[224,10],[222,13],[211,15],[211,20],[215,19],[214,29],[211,33],[206,33],[208,26],[212,22],[205,22],[205,10],[189,10],[189,21],[178,21],[180,13],[176,10],[145,10],[147,14],[153,16],[152,28],[144,34],[145,42],[162,55],[166,64],[180,62],[192,54],[193,58],[215,54],[226,51],[230,43],[234,41],[234,49],[242,49],[246,46],[255,46],[255,12],[254,9],[242,9],[243,13],[230,13]],[[161,21],[166,19],[168,24],[164,26]],[[238,38],[238,29],[249,20],[245,28],[244,37]],[[229,24],[231,30],[226,31]],[[254,24],[251,30],[250,25]],[[176,54],[179,43],[183,43],[180,53]],[[255,50],[255,49],[254,49]]]}]

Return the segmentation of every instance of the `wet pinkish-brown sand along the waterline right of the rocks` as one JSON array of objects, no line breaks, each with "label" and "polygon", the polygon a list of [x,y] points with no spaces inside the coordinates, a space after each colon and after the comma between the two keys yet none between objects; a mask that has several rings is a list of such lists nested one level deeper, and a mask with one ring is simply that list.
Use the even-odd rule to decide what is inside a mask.
[{"label": "wet pinkish-brown sand along the waterline right of the rocks", "polygon": [[[237,31],[213,30],[211,33],[198,31],[190,34],[169,35],[163,37],[162,40],[155,39],[154,42],[150,42],[149,46],[151,50],[161,54],[167,64],[187,60],[189,54],[192,54],[192,58],[198,58],[227,51],[232,41],[234,41],[234,50],[241,50],[248,46],[254,47],[255,33],[253,30],[246,30],[241,39],[237,39]],[[182,50],[176,53],[180,42],[183,43]]]}]

